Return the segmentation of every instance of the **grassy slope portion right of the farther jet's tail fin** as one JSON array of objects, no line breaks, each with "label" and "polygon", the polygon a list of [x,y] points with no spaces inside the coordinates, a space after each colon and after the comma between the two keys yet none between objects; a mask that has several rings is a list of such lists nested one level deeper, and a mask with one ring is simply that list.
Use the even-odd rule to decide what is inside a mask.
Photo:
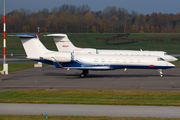
[{"label": "grassy slope portion right of the farther jet's tail fin", "polygon": [[[171,41],[172,38],[180,38],[178,33],[143,33],[143,34],[130,34],[125,38],[139,38],[139,39],[153,39],[153,41],[139,41],[131,44],[120,45],[107,45],[103,40],[96,40],[96,37],[114,37],[118,34],[67,34],[69,39],[78,47],[92,47],[97,49],[124,49],[124,50],[161,50],[169,53],[180,52],[180,42]],[[155,41],[156,38],[162,38],[164,42]],[[130,41],[130,40],[129,40]],[[110,41],[110,42],[122,42]]]}]

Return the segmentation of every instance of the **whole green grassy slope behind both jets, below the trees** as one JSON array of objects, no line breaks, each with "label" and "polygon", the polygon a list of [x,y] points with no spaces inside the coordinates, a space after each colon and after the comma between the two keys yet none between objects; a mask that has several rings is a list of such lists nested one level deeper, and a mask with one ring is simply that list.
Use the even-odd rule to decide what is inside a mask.
[{"label": "whole green grassy slope behind both jets, below the trees", "polygon": [[[13,34],[13,33],[12,33]],[[8,34],[7,34],[8,35]],[[50,50],[57,50],[53,38],[44,37],[45,33],[40,34],[40,40]],[[129,36],[123,36],[122,38],[128,38],[129,40],[111,40],[109,43],[123,43],[131,41],[132,38],[138,38],[139,41],[130,44],[108,45],[102,39],[97,38],[112,38],[118,36],[118,34],[83,34],[83,33],[69,33],[67,34],[69,39],[77,47],[83,48],[97,48],[97,49],[120,49],[120,50],[161,50],[168,53],[180,53],[180,34],[178,33],[132,33]],[[0,34],[0,38],[3,39],[3,34]],[[175,41],[171,41],[172,38],[176,38]],[[147,41],[148,39],[148,41]],[[162,39],[163,42],[156,39]],[[7,53],[24,53],[24,49],[18,37],[8,37],[7,40]],[[179,40],[179,41],[177,41]],[[3,53],[3,40],[0,41],[0,53]]]}]

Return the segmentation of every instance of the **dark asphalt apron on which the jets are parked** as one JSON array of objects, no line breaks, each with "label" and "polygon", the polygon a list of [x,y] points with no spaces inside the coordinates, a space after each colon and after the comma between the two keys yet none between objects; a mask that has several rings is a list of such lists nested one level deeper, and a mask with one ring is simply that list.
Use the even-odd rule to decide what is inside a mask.
[{"label": "dark asphalt apron on which the jets are parked", "polygon": [[80,70],[57,69],[47,65],[0,75],[0,90],[12,89],[93,89],[93,90],[180,90],[180,67],[153,69],[90,71],[80,78]]}]

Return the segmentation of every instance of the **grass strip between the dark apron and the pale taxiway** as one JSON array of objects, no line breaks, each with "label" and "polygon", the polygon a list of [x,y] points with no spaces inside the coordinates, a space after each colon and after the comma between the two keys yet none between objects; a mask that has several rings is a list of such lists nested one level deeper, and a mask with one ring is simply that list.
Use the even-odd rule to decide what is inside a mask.
[{"label": "grass strip between the dark apron and the pale taxiway", "polygon": [[12,90],[0,92],[0,102],[180,106],[180,91]]}]

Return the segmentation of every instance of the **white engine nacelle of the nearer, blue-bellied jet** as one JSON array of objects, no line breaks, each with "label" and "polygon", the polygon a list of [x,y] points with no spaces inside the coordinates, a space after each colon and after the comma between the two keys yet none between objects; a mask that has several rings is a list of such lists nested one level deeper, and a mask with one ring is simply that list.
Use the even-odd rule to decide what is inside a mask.
[{"label": "white engine nacelle of the nearer, blue-bellied jet", "polygon": [[71,62],[73,55],[71,52],[50,52],[43,54],[40,58],[50,61],[55,59],[57,62]]}]

